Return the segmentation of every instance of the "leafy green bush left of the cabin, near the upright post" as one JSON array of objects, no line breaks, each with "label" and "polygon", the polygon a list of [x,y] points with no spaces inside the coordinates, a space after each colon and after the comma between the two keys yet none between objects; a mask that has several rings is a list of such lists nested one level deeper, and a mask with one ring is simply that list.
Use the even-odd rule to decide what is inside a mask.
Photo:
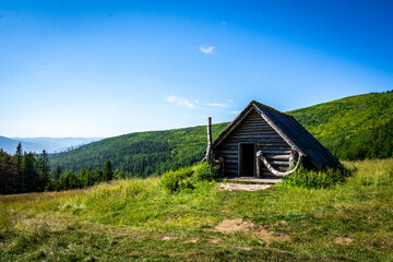
[{"label": "leafy green bush left of the cabin, near the upright post", "polygon": [[193,184],[190,179],[193,170],[188,168],[180,168],[176,171],[170,170],[163,175],[159,184],[169,190],[170,192],[179,191],[180,189],[190,188],[193,189]]}]

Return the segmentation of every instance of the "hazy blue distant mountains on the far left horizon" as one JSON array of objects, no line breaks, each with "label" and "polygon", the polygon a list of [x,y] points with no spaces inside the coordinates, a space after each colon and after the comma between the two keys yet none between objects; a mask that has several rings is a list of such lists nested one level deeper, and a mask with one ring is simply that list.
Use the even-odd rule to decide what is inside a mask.
[{"label": "hazy blue distant mountains on the far left horizon", "polygon": [[81,145],[99,141],[103,138],[5,138],[0,135],[0,148],[9,154],[14,154],[17,144],[22,143],[23,151],[40,153],[63,152]]}]

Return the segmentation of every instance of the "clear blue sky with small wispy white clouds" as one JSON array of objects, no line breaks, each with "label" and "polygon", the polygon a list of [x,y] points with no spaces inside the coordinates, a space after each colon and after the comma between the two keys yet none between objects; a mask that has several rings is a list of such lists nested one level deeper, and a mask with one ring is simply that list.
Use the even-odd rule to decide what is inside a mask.
[{"label": "clear blue sky with small wispy white clouds", "polygon": [[393,90],[392,1],[0,1],[0,135],[112,136]]}]

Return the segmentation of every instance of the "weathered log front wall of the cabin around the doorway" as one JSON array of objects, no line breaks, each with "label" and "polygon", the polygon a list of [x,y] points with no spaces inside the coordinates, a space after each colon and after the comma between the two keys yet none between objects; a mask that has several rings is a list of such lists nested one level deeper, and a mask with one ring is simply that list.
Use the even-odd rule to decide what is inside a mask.
[{"label": "weathered log front wall of the cabin around the doorway", "polygon": [[[288,169],[290,146],[253,109],[222,143],[213,148],[216,157],[224,157],[224,176],[238,176],[238,144],[241,142],[255,143],[255,152],[262,151],[275,169],[282,171]],[[263,167],[261,176],[274,175]]]}]

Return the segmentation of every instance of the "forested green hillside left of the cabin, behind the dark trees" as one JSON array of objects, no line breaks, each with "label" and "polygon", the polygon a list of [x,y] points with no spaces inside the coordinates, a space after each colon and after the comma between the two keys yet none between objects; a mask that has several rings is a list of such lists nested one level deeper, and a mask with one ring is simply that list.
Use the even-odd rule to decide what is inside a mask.
[{"label": "forested green hillside left of the cabin, behind the dark trees", "polygon": [[[213,126],[213,138],[228,123]],[[190,166],[203,158],[206,127],[130,133],[94,142],[76,150],[53,154],[51,167],[78,170],[103,168],[110,159],[115,169],[144,177],[170,168]]]}]

